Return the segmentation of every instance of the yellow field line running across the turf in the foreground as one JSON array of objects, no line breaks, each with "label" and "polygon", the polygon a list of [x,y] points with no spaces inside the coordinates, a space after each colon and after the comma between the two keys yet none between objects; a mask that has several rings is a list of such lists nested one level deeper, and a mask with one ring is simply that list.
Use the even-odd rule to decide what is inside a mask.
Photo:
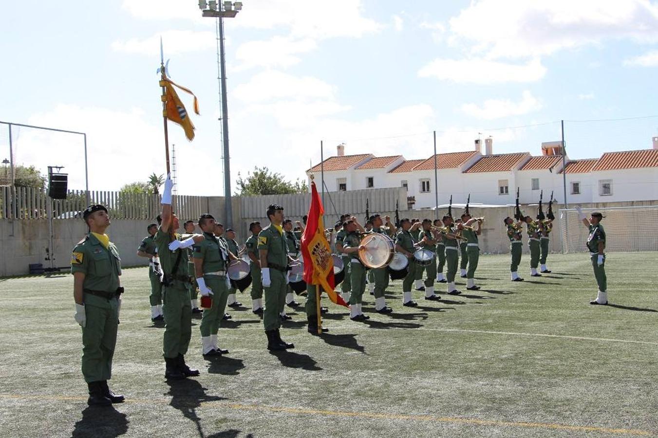
[{"label": "yellow field line running across the turf in the foreground", "polygon": [[[76,401],[84,402],[86,397],[74,396],[49,396],[42,395],[13,395],[13,394],[0,394],[0,399],[14,399],[14,400],[48,400],[48,401]],[[139,400],[128,399],[126,403],[130,404],[169,404],[170,401],[161,400]],[[372,418],[383,420],[412,420],[422,422],[440,422],[440,423],[455,423],[455,424],[470,424],[474,426],[511,426],[511,427],[534,427],[540,429],[558,429],[582,432],[601,432],[601,433],[617,433],[624,435],[638,435],[638,436],[651,436],[654,435],[651,431],[642,429],[613,429],[609,427],[597,426],[571,426],[569,424],[557,423],[537,423],[537,422],[505,422],[499,420],[478,420],[477,418],[458,418],[458,417],[440,417],[435,415],[405,415],[405,414],[387,414],[378,412],[345,412],[337,410],[320,410],[320,409],[303,409],[303,408],[286,408],[277,406],[264,406],[261,404],[239,404],[228,403],[224,401],[202,401],[200,405],[220,404],[223,408],[231,408],[235,410],[261,410],[266,412],[285,412],[287,414],[306,414],[306,415],[325,415],[337,417],[352,417],[352,418]]]}]

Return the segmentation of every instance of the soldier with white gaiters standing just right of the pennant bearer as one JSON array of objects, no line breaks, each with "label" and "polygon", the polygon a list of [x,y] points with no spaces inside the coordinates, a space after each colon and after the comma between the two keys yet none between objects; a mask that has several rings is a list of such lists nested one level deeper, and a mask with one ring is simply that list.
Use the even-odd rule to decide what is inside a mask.
[{"label": "soldier with white gaiters standing just right of the pennant bearer", "polygon": [[235,256],[228,251],[224,241],[215,235],[215,218],[211,214],[199,216],[199,227],[204,239],[192,247],[194,273],[201,296],[212,295],[210,308],[203,309],[201,317],[201,348],[204,356],[227,354],[228,350],[217,345],[217,333],[224,316],[226,299],[231,287],[226,270]]}]

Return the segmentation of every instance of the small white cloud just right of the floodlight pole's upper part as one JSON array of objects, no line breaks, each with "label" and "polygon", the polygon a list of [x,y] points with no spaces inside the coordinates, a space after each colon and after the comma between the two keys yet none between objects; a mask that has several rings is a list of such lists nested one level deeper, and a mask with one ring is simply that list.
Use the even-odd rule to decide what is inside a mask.
[{"label": "small white cloud just right of the floodlight pole's upper part", "polygon": [[236,70],[253,66],[290,67],[301,59],[295,56],[307,53],[317,48],[313,39],[305,38],[297,41],[290,37],[275,36],[268,41],[249,41],[238,47],[236,58],[242,62]]}]

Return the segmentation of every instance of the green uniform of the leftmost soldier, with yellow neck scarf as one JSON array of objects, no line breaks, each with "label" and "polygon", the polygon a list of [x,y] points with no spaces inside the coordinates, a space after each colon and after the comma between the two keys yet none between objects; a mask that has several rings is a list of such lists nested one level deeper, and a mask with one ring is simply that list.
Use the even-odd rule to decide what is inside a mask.
[{"label": "green uniform of the leftmost soldier, with yellow neck scarf", "polygon": [[71,257],[71,273],[85,274],[83,300],[86,325],[82,328],[82,375],[88,383],[112,377],[118,310],[117,289],[121,259],[114,243],[108,247],[89,233]]}]

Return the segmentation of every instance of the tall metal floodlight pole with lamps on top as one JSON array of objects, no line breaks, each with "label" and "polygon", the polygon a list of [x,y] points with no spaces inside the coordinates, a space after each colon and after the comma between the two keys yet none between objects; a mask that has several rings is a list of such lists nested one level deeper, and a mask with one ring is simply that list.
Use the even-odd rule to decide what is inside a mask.
[{"label": "tall metal floodlight pole with lamps on top", "polygon": [[217,19],[217,43],[219,80],[222,101],[222,145],[224,154],[224,224],[226,228],[233,226],[233,208],[231,206],[231,170],[228,149],[228,102],[226,99],[226,57],[224,55],[224,17],[233,18],[242,9],[241,1],[199,0],[201,15]]}]

